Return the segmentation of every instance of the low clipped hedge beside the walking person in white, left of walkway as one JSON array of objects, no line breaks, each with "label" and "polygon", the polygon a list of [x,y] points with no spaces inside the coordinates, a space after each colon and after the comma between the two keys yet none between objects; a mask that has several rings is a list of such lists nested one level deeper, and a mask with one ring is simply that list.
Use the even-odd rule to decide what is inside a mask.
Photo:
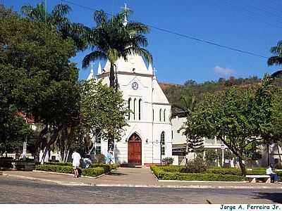
[{"label": "low clipped hedge beside the walking person in white, left of walkway", "polygon": [[[58,172],[73,174],[73,167],[67,165],[36,165],[35,170],[41,170],[45,172]],[[104,174],[105,170],[103,167],[91,167],[89,169],[83,169],[81,174],[83,176],[97,177],[101,174]]]}]

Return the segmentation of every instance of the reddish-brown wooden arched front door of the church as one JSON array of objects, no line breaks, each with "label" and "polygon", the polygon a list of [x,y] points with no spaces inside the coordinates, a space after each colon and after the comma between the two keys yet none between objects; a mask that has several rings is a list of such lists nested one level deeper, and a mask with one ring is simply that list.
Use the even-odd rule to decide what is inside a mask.
[{"label": "reddish-brown wooden arched front door of the church", "polygon": [[142,141],[136,133],[132,134],[128,139],[128,163],[142,164]]}]

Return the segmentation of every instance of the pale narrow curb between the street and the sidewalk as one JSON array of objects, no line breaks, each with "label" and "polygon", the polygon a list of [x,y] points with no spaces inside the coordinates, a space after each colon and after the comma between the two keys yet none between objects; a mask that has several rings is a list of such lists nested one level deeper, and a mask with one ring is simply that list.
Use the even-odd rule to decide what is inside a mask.
[{"label": "pale narrow curb between the street and the sidewalk", "polygon": [[82,182],[65,182],[54,181],[50,179],[39,179],[36,177],[25,177],[20,175],[3,174],[8,177],[18,177],[21,179],[30,179],[35,181],[47,181],[63,186],[97,186],[97,187],[128,187],[128,188],[214,188],[214,189],[282,189],[280,187],[269,186],[212,186],[212,185],[147,185],[147,184],[94,184],[94,183],[82,183]]}]

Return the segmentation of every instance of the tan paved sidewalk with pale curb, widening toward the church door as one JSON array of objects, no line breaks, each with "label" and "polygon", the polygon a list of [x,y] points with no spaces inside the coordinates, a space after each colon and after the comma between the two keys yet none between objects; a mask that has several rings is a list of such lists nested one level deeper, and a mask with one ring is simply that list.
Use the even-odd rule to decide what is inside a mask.
[{"label": "tan paved sidewalk with pale curb, widening toward the church door", "polygon": [[[52,182],[68,186],[124,186],[152,188],[274,188],[281,189],[282,184],[252,184],[249,182],[220,182],[220,181],[158,181],[151,170],[147,168],[123,168],[106,174],[97,179],[73,178],[71,175],[54,174],[49,172],[20,172],[4,171],[1,177],[17,177]],[[0,177],[0,179],[1,179]]]}]

